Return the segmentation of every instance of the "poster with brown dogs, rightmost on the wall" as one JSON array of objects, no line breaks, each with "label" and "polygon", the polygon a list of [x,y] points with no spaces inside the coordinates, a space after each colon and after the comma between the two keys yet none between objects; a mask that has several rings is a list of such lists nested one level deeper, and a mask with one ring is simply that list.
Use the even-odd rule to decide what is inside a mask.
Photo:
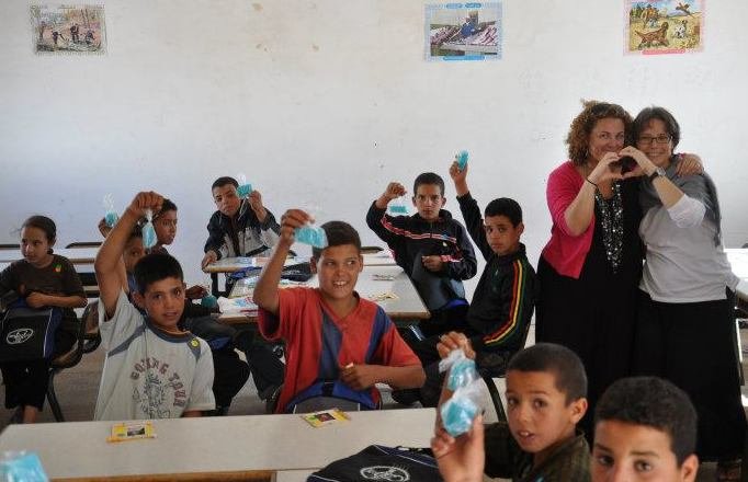
[{"label": "poster with brown dogs, rightmost on the wall", "polygon": [[624,1],[626,53],[685,54],[702,49],[703,0]]}]

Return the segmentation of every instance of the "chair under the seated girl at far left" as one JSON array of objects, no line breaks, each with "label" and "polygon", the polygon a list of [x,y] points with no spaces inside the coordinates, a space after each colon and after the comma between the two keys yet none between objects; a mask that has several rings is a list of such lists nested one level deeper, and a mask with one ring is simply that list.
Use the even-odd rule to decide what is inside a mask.
[{"label": "chair under the seated girl at far left", "polygon": [[63,415],[63,410],[59,406],[57,393],[55,392],[55,377],[66,368],[71,368],[78,365],[83,357],[83,354],[91,353],[99,346],[99,343],[101,342],[101,335],[99,334],[99,317],[97,306],[98,301],[90,302],[86,307],[80,323],[78,323],[76,343],[67,353],[64,353],[52,360],[52,366],[49,367],[47,400],[49,402],[52,413],[55,415],[55,420],[57,422],[65,422],[65,416]]}]

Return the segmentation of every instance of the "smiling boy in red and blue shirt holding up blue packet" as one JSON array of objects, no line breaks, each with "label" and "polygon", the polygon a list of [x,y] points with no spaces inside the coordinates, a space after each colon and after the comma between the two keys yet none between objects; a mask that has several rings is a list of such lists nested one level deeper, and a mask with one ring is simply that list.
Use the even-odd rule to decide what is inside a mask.
[{"label": "smiling boy in red and blue shirt holding up blue packet", "polygon": [[319,288],[279,289],[294,230],[311,220],[297,209],[282,219],[277,245],[254,288],[260,332],[286,343],[285,383],[275,411],[293,412],[297,403],[316,397],[376,409],[381,395],[375,383],[420,387],[424,375],[418,357],[384,310],[354,291],[363,269],[355,229],[342,221],[321,226],[328,246],[314,248],[310,262]]}]

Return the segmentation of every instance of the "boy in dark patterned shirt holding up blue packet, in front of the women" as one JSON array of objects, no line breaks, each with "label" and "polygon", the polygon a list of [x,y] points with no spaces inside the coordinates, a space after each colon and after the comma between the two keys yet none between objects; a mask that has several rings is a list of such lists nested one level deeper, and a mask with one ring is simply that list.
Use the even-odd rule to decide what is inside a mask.
[{"label": "boy in dark patterned shirt holding up blue packet, in front of the women", "polygon": [[[462,335],[447,336],[439,349],[446,356],[457,347],[475,356]],[[456,439],[437,424],[431,449],[444,480],[480,482],[485,464],[486,475],[517,482],[589,482],[589,446],[576,427],[586,393],[585,367],[570,349],[540,343],[519,352],[507,368],[508,422],[484,427],[478,417]],[[445,388],[443,399],[449,394]]]}]

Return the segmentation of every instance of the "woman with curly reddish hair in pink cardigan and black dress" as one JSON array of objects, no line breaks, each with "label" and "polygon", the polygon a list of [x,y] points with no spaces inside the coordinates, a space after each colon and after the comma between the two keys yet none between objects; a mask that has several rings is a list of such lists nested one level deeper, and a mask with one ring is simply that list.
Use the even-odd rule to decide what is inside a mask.
[{"label": "woman with curly reddish hair in pink cardigan and black dress", "polygon": [[[535,337],[582,359],[588,414],[605,388],[631,371],[643,256],[639,183],[620,154],[631,127],[620,105],[586,102],[566,139],[569,160],[551,173],[546,190],[553,227],[537,266]],[[591,422],[590,415],[582,421],[588,436]]]}]

